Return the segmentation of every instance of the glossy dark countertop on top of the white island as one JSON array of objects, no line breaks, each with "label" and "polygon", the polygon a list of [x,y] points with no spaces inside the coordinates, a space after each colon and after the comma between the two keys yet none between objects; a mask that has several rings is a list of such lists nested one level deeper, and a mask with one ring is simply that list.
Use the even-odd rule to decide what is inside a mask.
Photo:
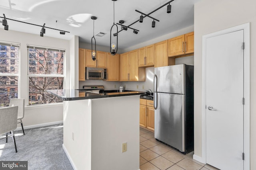
[{"label": "glossy dark countertop on top of the white island", "polygon": [[118,96],[132,96],[142,95],[146,92],[130,91],[125,92],[113,92],[113,90],[105,90],[103,93],[93,93],[91,90],[79,90],[79,89],[64,89],[64,90],[48,90],[51,94],[62,98],[64,101],[70,100],[85,100],[85,99],[97,99],[97,98],[110,98]]}]

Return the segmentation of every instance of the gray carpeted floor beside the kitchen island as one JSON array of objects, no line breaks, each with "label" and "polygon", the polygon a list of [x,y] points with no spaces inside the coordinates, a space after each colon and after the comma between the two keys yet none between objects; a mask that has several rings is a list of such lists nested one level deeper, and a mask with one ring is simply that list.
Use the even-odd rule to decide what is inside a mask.
[{"label": "gray carpeted floor beside the kitchen island", "polygon": [[[28,170],[73,170],[62,149],[63,125],[52,125],[14,131],[18,152],[12,137],[0,140],[0,160],[28,161]],[[0,138],[1,139],[1,138]]]}]

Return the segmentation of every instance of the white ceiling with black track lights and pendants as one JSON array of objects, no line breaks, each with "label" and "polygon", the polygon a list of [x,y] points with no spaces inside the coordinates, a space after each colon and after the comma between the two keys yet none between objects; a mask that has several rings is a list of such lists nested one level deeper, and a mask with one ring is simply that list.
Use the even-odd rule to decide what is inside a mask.
[{"label": "white ceiling with black track lights and pendants", "polygon": [[[158,7],[166,4],[170,0],[1,0],[0,11],[6,18],[24,21],[36,25],[43,25],[69,31],[65,35],[60,35],[59,31],[47,29],[44,36],[56,37],[70,40],[73,35],[79,36],[79,42],[91,43],[93,36],[93,20],[91,16],[96,16],[94,20],[94,34],[104,32],[103,37],[95,36],[97,45],[109,46],[110,28],[115,23],[124,20],[124,25],[130,25],[138,20],[139,10],[145,14],[152,12]],[[172,12],[167,14],[166,8],[157,10],[150,16],[160,20],[156,21],[156,27],[152,28],[152,19],[144,18],[143,23],[137,22],[130,27],[138,29],[138,34],[134,34],[132,29],[118,33],[118,48],[125,49],[133,45],[143,43],[150,39],[166,35],[173,31],[194,25],[194,4],[200,0],[174,0]],[[3,17],[3,15],[0,16]],[[1,18],[2,21],[2,18]],[[38,34],[40,36],[41,27],[29,25],[17,21],[8,20],[9,30]],[[57,21],[57,23],[56,23]],[[1,24],[0,28],[4,28]],[[118,25],[118,30],[121,26]],[[44,37],[42,37],[44,38]]]}]

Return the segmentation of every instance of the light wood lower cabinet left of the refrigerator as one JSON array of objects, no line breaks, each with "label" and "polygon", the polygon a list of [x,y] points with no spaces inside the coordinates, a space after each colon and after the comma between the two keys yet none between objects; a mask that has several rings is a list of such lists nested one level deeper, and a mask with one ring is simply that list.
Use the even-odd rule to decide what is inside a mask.
[{"label": "light wood lower cabinet left of the refrigerator", "polygon": [[140,126],[154,131],[154,112],[152,100],[140,99]]}]

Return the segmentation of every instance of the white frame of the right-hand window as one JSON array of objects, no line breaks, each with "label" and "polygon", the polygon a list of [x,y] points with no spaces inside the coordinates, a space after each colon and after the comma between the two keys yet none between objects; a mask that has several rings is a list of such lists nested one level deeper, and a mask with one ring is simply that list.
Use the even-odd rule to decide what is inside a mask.
[{"label": "white frame of the right-hand window", "polygon": [[[41,49],[41,50],[48,50],[48,51],[59,51],[64,52],[63,55],[63,74],[30,74],[29,73],[29,49]],[[29,77],[60,77],[63,78],[63,89],[65,88],[65,82],[66,82],[66,49],[59,49],[59,48],[52,48],[52,47],[42,47],[42,46],[36,46],[36,45],[27,45],[27,97],[26,97],[26,106],[28,107],[44,107],[44,106],[53,106],[58,104],[63,104],[62,102],[58,103],[48,103],[48,104],[33,104],[30,105],[30,95],[29,95]],[[52,59],[55,59],[53,56]],[[40,62],[40,61],[39,61]],[[42,61],[44,62],[44,61]],[[39,67],[38,67],[39,69]]]}]

